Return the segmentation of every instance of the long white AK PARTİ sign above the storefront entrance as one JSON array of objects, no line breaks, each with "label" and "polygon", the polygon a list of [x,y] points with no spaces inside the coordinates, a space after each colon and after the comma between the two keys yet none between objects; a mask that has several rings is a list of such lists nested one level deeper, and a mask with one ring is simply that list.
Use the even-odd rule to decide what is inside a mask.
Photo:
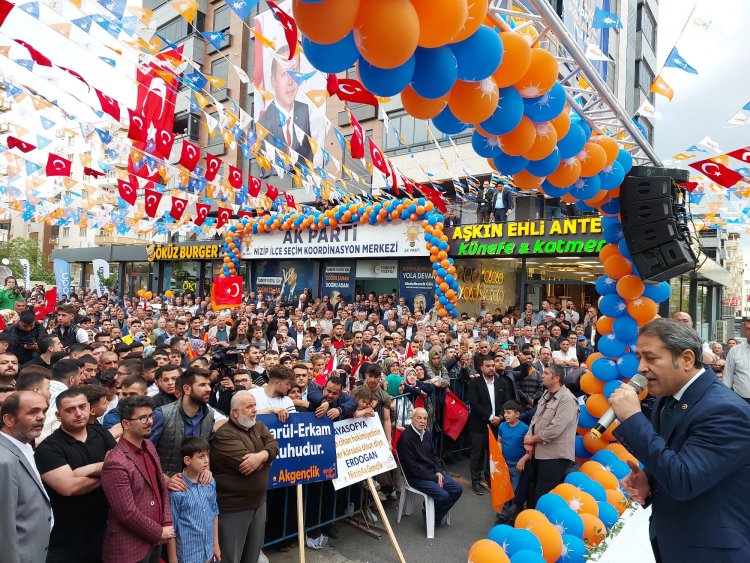
[{"label": "long white AK PART\u0130 sign above the storefront entrance", "polygon": [[388,227],[342,225],[320,231],[274,231],[245,236],[242,258],[347,258],[428,256],[417,223]]}]

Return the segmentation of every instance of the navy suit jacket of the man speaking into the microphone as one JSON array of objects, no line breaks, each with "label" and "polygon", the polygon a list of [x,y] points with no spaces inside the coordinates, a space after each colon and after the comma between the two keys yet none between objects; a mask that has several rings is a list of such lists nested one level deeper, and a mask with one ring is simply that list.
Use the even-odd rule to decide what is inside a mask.
[{"label": "navy suit jacket of the man speaking into the microphone", "polygon": [[662,403],[651,422],[638,414],[614,431],[649,477],[650,532],[662,561],[748,561],[750,406],[710,369],[675,405],[666,438]]}]

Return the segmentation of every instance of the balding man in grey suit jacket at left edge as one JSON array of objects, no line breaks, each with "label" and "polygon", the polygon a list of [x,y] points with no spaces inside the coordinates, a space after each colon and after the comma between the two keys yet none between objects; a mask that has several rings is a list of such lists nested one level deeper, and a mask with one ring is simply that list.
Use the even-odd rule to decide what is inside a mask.
[{"label": "balding man in grey suit jacket at left edge", "polygon": [[0,538],[3,561],[44,561],[52,508],[34,462],[47,403],[31,391],[9,395],[0,410]]}]

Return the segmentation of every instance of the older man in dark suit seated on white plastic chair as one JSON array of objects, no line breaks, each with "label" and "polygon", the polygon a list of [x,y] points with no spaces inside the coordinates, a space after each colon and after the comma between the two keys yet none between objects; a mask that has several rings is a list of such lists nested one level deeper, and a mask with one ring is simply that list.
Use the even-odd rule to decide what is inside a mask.
[{"label": "older man in dark suit seated on white plastic chair", "polygon": [[435,527],[439,527],[453,505],[461,498],[461,485],[440,468],[440,460],[427,430],[427,411],[414,409],[411,424],[396,444],[398,461],[409,485],[435,501]]}]

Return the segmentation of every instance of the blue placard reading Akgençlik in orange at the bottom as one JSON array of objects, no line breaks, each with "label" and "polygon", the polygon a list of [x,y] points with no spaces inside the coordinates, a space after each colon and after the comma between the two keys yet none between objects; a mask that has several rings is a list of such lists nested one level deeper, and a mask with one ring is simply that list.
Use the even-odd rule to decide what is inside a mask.
[{"label": "blue placard reading Akgen\u00e7lik in orange at the bottom", "polygon": [[279,443],[279,455],[271,465],[270,489],[328,481],[337,477],[333,422],[315,413],[289,415],[285,423],[276,415],[258,415]]}]

